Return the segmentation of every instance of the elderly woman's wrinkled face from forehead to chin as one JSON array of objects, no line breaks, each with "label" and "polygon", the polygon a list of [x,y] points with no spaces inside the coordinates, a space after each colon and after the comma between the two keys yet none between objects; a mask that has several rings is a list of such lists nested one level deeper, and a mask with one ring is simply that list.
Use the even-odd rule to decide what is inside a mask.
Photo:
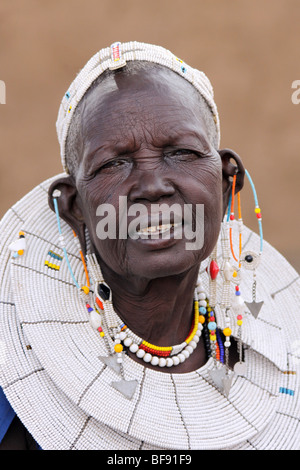
[{"label": "elderly woman's wrinkled face from forehead to chin", "polygon": [[[146,279],[180,274],[210,254],[222,219],[222,164],[186,80],[164,69],[107,78],[86,98],[82,148],[76,187],[92,244],[113,273]],[[109,212],[101,216],[104,204]],[[137,204],[142,212],[135,213]],[[151,219],[162,204],[181,210],[176,227]],[[204,208],[204,216],[193,220],[198,239],[204,232],[196,249],[187,248],[186,205],[194,216],[197,205]],[[108,213],[110,235],[103,239],[101,220],[108,221]],[[142,227],[130,231],[140,214]],[[120,238],[124,222],[130,235]],[[159,233],[157,225],[166,231]]]}]

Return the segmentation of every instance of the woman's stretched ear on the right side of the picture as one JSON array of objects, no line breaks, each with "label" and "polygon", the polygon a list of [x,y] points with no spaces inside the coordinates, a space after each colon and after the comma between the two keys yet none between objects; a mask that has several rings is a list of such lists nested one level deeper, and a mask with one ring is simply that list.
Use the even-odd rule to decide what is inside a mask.
[{"label": "woman's stretched ear on the right side of the picture", "polygon": [[232,189],[232,179],[236,175],[235,193],[238,193],[244,186],[245,168],[241,158],[233,150],[223,149],[219,150],[218,153],[222,160],[224,216]]}]

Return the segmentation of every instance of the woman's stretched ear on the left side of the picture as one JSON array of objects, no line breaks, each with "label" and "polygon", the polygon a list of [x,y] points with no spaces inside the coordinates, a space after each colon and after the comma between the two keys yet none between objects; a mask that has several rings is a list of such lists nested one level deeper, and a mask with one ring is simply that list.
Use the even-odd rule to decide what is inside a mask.
[{"label": "woman's stretched ear on the left side of the picture", "polygon": [[55,180],[48,190],[48,202],[55,212],[53,196],[57,196],[57,205],[60,217],[74,230],[80,241],[83,253],[86,253],[85,222],[81,209],[81,200],[72,176],[61,177]]}]

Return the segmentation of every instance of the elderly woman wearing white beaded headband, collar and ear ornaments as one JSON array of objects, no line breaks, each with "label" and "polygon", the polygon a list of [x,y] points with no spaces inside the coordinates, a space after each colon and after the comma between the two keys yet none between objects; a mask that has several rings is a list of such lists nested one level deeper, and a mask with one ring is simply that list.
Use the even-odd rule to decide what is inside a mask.
[{"label": "elderly woman wearing white beaded headband, collar and ear ornaments", "polygon": [[242,230],[206,76],[115,43],[57,130],[64,173],[1,225],[2,428],[16,413],[42,449],[299,449],[299,278],[262,253],[247,171],[260,237]]}]

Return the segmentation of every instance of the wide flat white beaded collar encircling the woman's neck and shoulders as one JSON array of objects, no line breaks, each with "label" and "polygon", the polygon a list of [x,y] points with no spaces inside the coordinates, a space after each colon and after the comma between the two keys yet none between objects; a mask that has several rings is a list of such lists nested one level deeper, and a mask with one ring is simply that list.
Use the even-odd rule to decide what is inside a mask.
[{"label": "wide flat white beaded collar encircling the woman's neck and shoulders", "polygon": [[[287,375],[295,367],[280,317],[283,304],[290,312],[295,305],[283,294],[282,279],[267,271],[258,278],[265,304],[258,320],[250,314],[245,318],[247,374],[234,378],[229,398],[211,382],[212,360],[188,374],[169,374],[126,357],[125,376],[138,381],[128,400],[111,387],[118,375],[98,359],[106,350],[88,323],[67,267],[44,265],[49,250],[58,249],[55,215],[47,202],[51,181],[17,203],[1,225],[1,334],[7,348],[1,386],[34,438],[43,448],[229,449],[265,435],[282,407],[280,389],[296,387],[291,385],[295,376]],[[26,233],[26,255],[11,263],[7,243],[20,228]],[[64,231],[74,272],[84,283],[71,231],[67,226]],[[249,248],[257,242],[248,229],[244,236]],[[265,253],[267,260],[283,263],[268,244]],[[285,267],[290,282],[293,270]],[[245,298],[250,290],[245,286]],[[223,327],[221,312],[217,316]]]}]

